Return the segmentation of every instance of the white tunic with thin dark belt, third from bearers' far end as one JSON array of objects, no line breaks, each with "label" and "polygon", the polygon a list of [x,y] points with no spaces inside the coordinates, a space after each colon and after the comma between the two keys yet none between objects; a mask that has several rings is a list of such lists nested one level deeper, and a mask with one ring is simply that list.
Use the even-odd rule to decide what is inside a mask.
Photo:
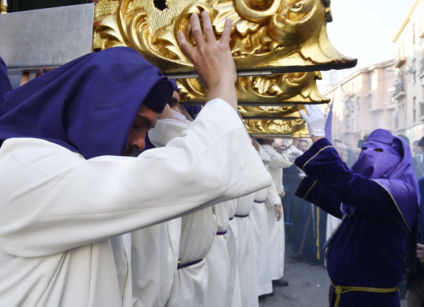
[{"label": "white tunic with thin dark belt, third from bearers' far end", "polygon": [[253,238],[253,231],[250,219],[246,216],[250,214],[253,207],[253,194],[237,199],[237,209],[234,219],[237,221],[238,241],[237,241],[237,267],[239,271],[240,293],[243,307],[258,307],[257,296],[257,263],[256,247]]}]

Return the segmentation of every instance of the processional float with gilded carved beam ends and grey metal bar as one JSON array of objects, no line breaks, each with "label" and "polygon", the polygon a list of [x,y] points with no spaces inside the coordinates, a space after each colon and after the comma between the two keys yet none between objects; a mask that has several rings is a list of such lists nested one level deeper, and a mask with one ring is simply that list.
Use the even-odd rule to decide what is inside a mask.
[{"label": "processional float with gilded carved beam ends and grey metal bar", "polygon": [[0,54],[9,75],[57,67],[91,51],[128,46],[177,79],[181,101],[204,103],[207,90],[195,80],[180,50],[182,30],[195,47],[190,16],[208,11],[217,39],[232,20],[230,48],[239,76],[239,110],[248,132],[260,137],[307,137],[299,110],[327,103],[316,80],[321,70],[354,67],[330,43],[330,0],[100,0],[0,16]]}]

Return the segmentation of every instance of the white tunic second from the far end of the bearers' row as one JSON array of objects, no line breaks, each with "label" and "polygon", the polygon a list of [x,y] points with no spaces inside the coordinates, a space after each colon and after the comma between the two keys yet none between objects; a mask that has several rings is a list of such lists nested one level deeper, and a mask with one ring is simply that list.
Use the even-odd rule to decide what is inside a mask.
[{"label": "white tunic second from the far end of the bearers' row", "polygon": [[[264,164],[268,164],[271,160],[269,155],[261,146],[259,146],[259,155]],[[272,293],[268,214],[267,207],[265,206],[267,194],[268,188],[264,188],[254,193],[253,207],[249,214],[256,247],[258,274],[257,296]]]}]

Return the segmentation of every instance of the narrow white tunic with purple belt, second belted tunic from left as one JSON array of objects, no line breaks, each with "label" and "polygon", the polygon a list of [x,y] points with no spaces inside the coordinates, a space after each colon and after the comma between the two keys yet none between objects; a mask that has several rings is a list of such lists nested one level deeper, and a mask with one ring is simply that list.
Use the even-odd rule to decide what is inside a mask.
[{"label": "narrow white tunic with purple belt, second belted tunic from left", "polygon": [[217,218],[217,235],[206,255],[208,266],[208,288],[206,293],[206,306],[229,307],[231,303],[230,285],[231,268],[228,254],[226,234],[228,232],[228,217],[232,200],[215,205]]}]

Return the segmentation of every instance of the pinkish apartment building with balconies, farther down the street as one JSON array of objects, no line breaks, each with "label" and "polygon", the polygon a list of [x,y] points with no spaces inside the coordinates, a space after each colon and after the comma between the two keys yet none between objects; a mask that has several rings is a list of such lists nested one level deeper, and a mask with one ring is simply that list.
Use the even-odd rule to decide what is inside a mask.
[{"label": "pinkish apartment building with balconies, farther down the street", "polygon": [[332,99],[332,138],[357,147],[377,128],[393,132],[393,60],[360,69],[324,92]]}]

